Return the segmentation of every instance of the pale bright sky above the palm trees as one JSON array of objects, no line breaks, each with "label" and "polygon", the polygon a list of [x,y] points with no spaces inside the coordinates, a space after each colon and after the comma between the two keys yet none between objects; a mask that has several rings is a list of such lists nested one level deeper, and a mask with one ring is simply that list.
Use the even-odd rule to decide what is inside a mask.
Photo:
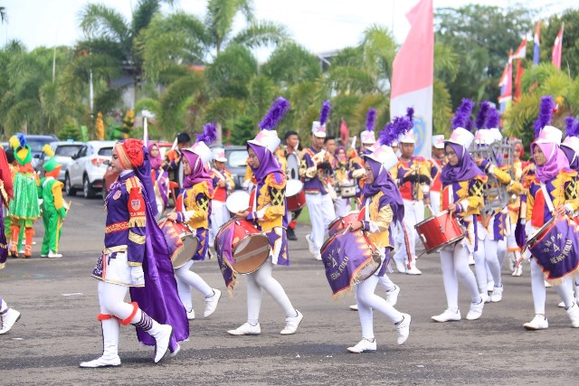
[{"label": "pale bright sky above the palm trees", "polygon": [[[5,6],[8,22],[0,25],[0,46],[11,39],[24,42],[29,50],[44,45],[73,45],[81,39],[79,14],[84,5],[108,5],[131,18],[131,9],[138,0],[0,0]],[[362,33],[371,24],[381,24],[394,31],[402,43],[408,30],[405,14],[418,0],[253,0],[257,19],[286,25],[291,37],[313,53],[332,52],[360,42]],[[433,0],[435,8],[480,5],[516,5],[510,0]],[[206,0],[176,0],[174,9],[196,14],[203,18]],[[562,14],[567,8],[577,7],[577,0],[527,0],[526,6],[540,15]],[[168,6],[163,12],[170,13]],[[235,24],[242,28],[241,17]],[[530,33],[530,31],[529,31]],[[515,47],[516,48],[516,47]],[[254,52],[264,60],[268,51]]]}]

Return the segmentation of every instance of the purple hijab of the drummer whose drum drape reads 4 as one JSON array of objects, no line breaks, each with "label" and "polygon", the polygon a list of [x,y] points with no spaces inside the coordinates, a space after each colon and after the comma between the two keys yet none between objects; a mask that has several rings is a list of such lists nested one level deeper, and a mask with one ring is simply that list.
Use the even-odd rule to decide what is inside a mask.
[{"label": "purple hijab of the drummer whose drum drape reads 4", "polygon": [[364,184],[362,194],[364,195],[364,200],[372,198],[376,193],[382,192],[384,195],[380,198],[380,205],[390,204],[392,211],[394,212],[393,221],[403,221],[404,218],[404,203],[402,201],[402,195],[394,183],[394,180],[390,176],[390,173],[379,162],[376,162],[372,158],[365,158],[365,161],[370,165],[372,169],[372,175],[374,176],[374,182],[372,184]]}]

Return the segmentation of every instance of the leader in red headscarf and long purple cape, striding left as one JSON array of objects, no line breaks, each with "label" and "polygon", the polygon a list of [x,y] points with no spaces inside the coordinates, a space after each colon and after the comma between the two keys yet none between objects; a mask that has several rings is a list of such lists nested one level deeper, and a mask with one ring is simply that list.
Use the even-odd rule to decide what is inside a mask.
[{"label": "leader in red headscarf and long purple cape, striding left", "polygon": [[[177,295],[173,267],[162,231],[147,147],[137,139],[117,143],[111,157],[119,179],[105,201],[105,249],[92,277],[99,279],[103,353],[81,367],[119,366],[119,327],[137,327],[138,341],[154,345],[154,362],[179,352],[189,336],[185,308]],[[133,303],[124,299],[130,289]]]}]

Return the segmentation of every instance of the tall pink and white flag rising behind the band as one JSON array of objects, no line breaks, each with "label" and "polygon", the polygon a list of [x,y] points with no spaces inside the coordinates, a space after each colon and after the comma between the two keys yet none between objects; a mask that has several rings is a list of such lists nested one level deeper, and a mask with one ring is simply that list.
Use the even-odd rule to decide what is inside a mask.
[{"label": "tall pink and white flag rising behind the band", "polygon": [[414,154],[430,158],[434,80],[432,0],[420,0],[406,18],[411,27],[394,58],[390,116],[402,116],[406,114],[406,108],[414,108]]}]

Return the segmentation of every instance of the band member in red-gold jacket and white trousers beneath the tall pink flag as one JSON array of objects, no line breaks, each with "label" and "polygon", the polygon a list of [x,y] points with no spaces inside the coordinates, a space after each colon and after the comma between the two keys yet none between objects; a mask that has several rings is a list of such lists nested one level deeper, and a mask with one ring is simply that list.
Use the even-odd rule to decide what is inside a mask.
[{"label": "band member in red-gold jacket and white trousers beneath the tall pink flag", "polygon": [[[412,110],[412,109],[411,109]],[[412,120],[413,111],[409,113]],[[431,165],[426,159],[414,153],[414,132],[408,130],[400,139],[402,155],[398,164],[390,171],[392,178],[400,188],[404,201],[404,221],[399,225],[398,237],[405,248],[396,249],[394,262],[399,272],[408,275],[420,275],[416,268],[416,242],[418,233],[414,225],[424,220],[424,205],[430,204],[430,184],[437,174],[438,168]],[[403,227],[403,228],[402,228]]]}]

